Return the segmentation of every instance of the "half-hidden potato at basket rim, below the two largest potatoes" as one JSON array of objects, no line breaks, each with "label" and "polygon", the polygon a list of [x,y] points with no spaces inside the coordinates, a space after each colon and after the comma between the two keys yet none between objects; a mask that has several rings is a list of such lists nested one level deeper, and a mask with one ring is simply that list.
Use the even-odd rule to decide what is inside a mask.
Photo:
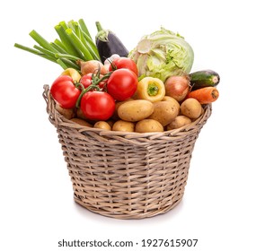
[{"label": "half-hidden potato at basket rim, below the two largest potatoes", "polygon": [[163,132],[163,125],[154,119],[143,119],[137,122],[135,126],[137,133]]}]

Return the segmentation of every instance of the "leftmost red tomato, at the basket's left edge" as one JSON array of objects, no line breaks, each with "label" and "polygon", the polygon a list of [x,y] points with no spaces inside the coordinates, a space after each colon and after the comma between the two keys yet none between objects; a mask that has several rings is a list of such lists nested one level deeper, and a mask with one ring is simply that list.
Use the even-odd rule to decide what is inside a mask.
[{"label": "leftmost red tomato, at the basket's left edge", "polygon": [[75,108],[81,91],[75,87],[71,76],[61,75],[52,83],[50,93],[62,108]]}]

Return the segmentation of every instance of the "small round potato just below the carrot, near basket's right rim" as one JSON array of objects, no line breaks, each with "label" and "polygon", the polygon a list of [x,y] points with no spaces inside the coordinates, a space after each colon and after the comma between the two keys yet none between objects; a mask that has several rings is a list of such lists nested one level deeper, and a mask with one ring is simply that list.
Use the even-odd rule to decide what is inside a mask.
[{"label": "small round potato just below the carrot, near basket's right rim", "polygon": [[196,119],[200,117],[201,111],[202,106],[196,99],[190,98],[181,103],[181,115]]}]

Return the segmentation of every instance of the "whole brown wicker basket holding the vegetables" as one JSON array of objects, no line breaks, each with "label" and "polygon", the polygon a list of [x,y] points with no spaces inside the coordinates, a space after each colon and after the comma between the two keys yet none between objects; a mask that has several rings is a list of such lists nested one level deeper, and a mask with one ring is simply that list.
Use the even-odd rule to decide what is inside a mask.
[{"label": "whole brown wicker basket holding the vegetables", "polygon": [[73,183],[75,202],[118,219],[143,219],[181,202],[191,153],[211,106],[192,124],[163,133],[103,131],[61,116],[44,86],[49,121]]}]

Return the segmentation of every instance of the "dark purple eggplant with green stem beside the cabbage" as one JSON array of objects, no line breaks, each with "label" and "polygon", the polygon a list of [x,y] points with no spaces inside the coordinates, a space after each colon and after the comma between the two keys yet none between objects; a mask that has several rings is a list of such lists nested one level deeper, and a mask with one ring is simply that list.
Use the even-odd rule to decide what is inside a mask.
[{"label": "dark purple eggplant with green stem beside the cabbage", "polygon": [[128,49],[124,46],[122,41],[111,30],[103,30],[100,22],[96,22],[98,33],[96,35],[96,46],[102,63],[112,56],[118,54],[119,56],[128,56]]}]

